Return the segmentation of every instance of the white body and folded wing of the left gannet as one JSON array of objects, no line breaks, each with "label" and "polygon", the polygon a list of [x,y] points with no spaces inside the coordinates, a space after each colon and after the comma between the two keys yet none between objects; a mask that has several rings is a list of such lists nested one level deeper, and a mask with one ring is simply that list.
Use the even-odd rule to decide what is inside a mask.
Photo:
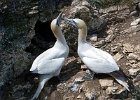
[{"label": "white body and folded wing of the left gannet", "polygon": [[38,74],[55,73],[62,67],[67,55],[66,49],[50,48],[34,60],[30,71]]}]

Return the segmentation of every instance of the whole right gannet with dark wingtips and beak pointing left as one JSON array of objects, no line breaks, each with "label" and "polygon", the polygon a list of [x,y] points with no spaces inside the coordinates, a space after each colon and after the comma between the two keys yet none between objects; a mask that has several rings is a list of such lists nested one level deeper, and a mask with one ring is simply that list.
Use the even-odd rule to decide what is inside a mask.
[{"label": "whole right gannet with dark wingtips and beak pointing left", "polygon": [[[105,73],[115,78],[118,83],[124,86],[128,91],[132,87],[132,83],[127,76],[118,67],[113,57],[98,48],[93,47],[86,41],[87,26],[81,19],[67,19],[64,18],[66,23],[72,24],[78,28],[78,55],[84,64],[94,73]],[[132,86],[131,86],[131,85]]]}]

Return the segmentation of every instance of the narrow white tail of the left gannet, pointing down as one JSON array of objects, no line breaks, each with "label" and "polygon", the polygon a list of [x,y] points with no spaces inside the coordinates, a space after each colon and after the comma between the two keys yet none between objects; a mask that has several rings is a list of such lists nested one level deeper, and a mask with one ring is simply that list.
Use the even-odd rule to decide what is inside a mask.
[{"label": "narrow white tail of the left gannet, pointing down", "polygon": [[48,76],[48,75],[40,75],[39,78],[40,78],[40,82],[39,82],[39,84],[38,84],[38,88],[37,88],[37,90],[36,90],[36,92],[35,92],[35,94],[34,94],[34,96],[32,97],[31,100],[34,100],[34,99],[37,99],[37,98],[38,98],[38,96],[39,96],[41,90],[43,89],[43,87],[44,87],[44,85],[45,85],[45,83],[46,83],[51,77]]}]

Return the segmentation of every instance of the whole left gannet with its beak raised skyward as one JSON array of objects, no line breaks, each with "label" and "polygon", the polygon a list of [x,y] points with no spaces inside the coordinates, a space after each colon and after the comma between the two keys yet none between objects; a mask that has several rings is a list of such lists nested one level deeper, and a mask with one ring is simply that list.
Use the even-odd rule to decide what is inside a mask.
[{"label": "whole left gannet with its beak raised skyward", "polygon": [[39,85],[32,100],[38,98],[45,83],[53,76],[58,76],[68,56],[69,47],[60,28],[62,13],[51,22],[51,29],[57,38],[54,46],[40,54],[33,62],[30,71],[38,73]]}]

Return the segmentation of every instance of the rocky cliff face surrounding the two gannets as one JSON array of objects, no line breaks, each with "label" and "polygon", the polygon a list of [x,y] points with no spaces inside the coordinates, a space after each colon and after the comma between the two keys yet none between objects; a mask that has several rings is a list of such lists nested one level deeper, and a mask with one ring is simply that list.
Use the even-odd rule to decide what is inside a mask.
[{"label": "rocky cliff face surrounding the two gannets", "polygon": [[[30,74],[29,69],[36,56],[53,46],[55,37],[50,22],[61,10],[65,17],[83,19],[88,26],[87,38],[92,38],[89,41],[111,53],[124,66],[124,72],[131,69],[130,76],[139,85],[139,25],[130,26],[129,9],[119,8],[101,9],[100,15],[88,0],[1,0],[0,100],[28,100],[32,97],[38,83],[34,80],[37,75]],[[133,22],[136,23],[139,22]],[[95,80],[81,80],[88,70],[77,57],[77,32],[63,25],[71,49],[70,57],[62,69],[61,80],[50,80],[39,99],[49,95],[50,100],[103,100],[116,91],[117,95],[121,94],[120,86],[111,79],[100,80],[95,76]],[[100,32],[103,34],[98,34]],[[132,50],[134,47],[137,52]],[[129,99],[127,94],[120,97],[122,95]]]}]

